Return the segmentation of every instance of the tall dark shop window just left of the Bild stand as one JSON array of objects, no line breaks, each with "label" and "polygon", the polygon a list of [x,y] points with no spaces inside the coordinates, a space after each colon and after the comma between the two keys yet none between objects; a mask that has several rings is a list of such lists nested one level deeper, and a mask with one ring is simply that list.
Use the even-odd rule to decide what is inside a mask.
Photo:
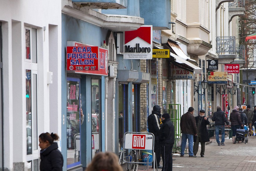
[{"label": "tall dark shop window just left of the Bild stand", "polygon": [[123,151],[123,135],[128,131],[128,85],[118,85],[118,149]]}]

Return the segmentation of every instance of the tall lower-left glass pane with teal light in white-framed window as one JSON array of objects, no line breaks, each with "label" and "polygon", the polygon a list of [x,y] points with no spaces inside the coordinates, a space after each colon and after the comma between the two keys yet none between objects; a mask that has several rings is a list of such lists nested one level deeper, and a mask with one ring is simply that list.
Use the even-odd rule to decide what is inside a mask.
[{"label": "tall lower-left glass pane with teal light in white-framed window", "polygon": [[[31,114],[31,70],[26,69],[26,132],[27,155],[32,154],[32,114]],[[37,138],[37,137],[36,137]]]}]

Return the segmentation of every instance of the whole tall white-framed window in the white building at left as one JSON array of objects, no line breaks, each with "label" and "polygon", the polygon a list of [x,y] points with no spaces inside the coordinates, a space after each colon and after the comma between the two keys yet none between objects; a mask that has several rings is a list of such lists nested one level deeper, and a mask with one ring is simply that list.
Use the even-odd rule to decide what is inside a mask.
[{"label": "whole tall white-framed window in the white building at left", "polygon": [[37,133],[37,29],[24,27],[25,37],[25,77],[26,77],[26,149],[28,170],[38,170]]}]

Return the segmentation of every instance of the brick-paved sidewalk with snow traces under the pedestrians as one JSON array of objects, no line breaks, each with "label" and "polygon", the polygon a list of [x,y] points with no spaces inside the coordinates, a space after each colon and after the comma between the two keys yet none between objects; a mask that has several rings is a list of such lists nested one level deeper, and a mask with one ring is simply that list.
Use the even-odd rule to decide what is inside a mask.
[{"label": "brick-paved sidewalk with snow traces under the pedestrians", "polygon": [[[197,156],[199,157],[197,158],[189,158],[188,153],[185,154],[184,157],[180,157],[179,153],[173,154],[174,160],[172,170],[256,170],[256,136],[249,136],[248,143],[246,144],[233,144],[232,139],[228,139],[228,137],[225,139],[225,146],[218,146],[215,137],[211,137],[210,141],[211,143],[205,146],[204,157],[200,157],[200,145],[197,153]],[[162,161],[160,164],[162,165]],[[144,166],[140,166],[139,168],[144,168]],[[161,169],[158,169],[158,171],[161,171]]]}]

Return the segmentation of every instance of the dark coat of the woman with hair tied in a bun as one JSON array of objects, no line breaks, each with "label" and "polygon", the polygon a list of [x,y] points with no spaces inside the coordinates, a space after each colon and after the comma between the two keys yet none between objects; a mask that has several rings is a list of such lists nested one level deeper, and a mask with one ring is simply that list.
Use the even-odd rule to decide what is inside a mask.
[{"label": "dark coat of the woman with hair tied in a bun", "polygon": [[40,171],[62,171],[63,156],[58,150],[57,142],[40,151]]}]

